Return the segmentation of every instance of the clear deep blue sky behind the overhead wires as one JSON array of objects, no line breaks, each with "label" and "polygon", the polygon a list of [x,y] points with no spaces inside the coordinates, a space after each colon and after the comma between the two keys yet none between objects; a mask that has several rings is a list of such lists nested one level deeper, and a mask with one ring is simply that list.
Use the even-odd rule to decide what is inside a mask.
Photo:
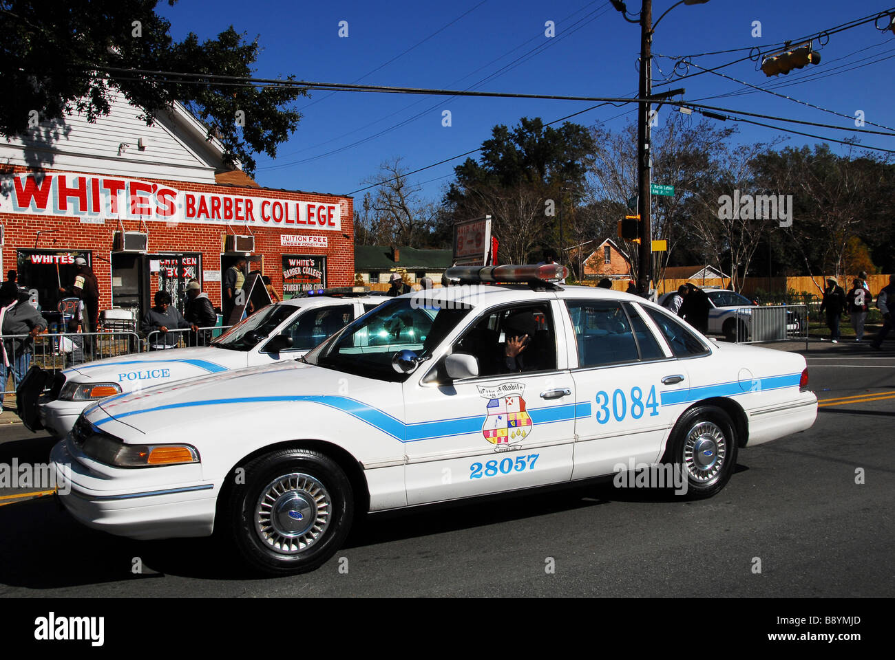
[{"label": "clear deep blue sky behind the overhead wires", "polygon": [[[892,0],[710,0],[708,4],[681,4],[659,24],[653,52],[690,55],[766,47],[882,12],[892,7],[887,2]],[[672,4],[673,0],[654,0],[653,16],[658,18]],[[628,0],[627,5],[629,10],[637,11],[640,0]],[[637,87],[639,29],[624,21],[603,0],[180,0],[174,7],[160,3],[158,12],[172,22],[173,36],[178,39],[189,31],[203,39],[213,38],[230,24],[249,38],[257,35],[262,46],[257,63],[259,77],[294,74],[300,80],[440,89],[472,86],[488,91],[593,97],[627,96]],[[347,38],[338,36],[339,21],[348,23]],[[553,38],[545,36],[546,21],[555,23]],[[754,21],[761,21],[760,38],[752,35]],[[408,49],[411,50],[401,55]],[[746,54],[742,51],[707,55],[693,61],[708,68]],[[755,63],[748,60],[721,71],[762,87],[784,85],[776,91],[849,116],[860,110],[867,122],[895,125],[895,113],[891,110],[895,97],[895,85],[891,82],[895,35],[891,31],[881,32],[873,24],[866,24],[840,32],[830,37],[821,55],[822,62],[816,66],[771,79],[756,71]],[[654,79],[660,79],[659,68],[668,74],[674,60],[660,57],[655,62]],[[493,78],[476,84],[494,73],[497,75]],[[741,95],[704,103],[855,127],[853,120],[749,90],[711,73],[669,86],[657,85],[656,90],[677,87],[686,88],[687,99],[745,90]],[[311,94],[311,98],[299,101],[303,120],[293,137],[280,146],[277,158],[258,158],[255,178],[261,185],[345,194],[362,188],[364,180],[376,173],[384,160],[401,157],[408,170],[417,169],[481,146],[497,123],[513,125],[522,116],[540,116],[550,122],[593,105],[558,100],[324,91]],[[442,125],[445,110],[451,113],[449,127]],[[667,112],[667,107],[663,107],[661,113]],[[697,115],[693,116],[695,120]],[[660,122],[662,119],[660,114]],[[584,125],[606,122],[618,129],[634,120],[632,105],[604,106],[572,121]],[[839,139],[854,134],[804,126],[792,128]],[[772,140],[780,134],[746,124],[740,124],[740,131],[738,139],[750,142]],[[861,139],[863,144],[895,149],[895,140],[889,137],[864,135]],[[817,141],[792,135],[786,144]],[[461,162],[463,159],[458,159],[413,174],[412,181],[422,184],[424,196],[438,199],[450,181],[453,166]],[[360,198],[362,194],[355,196]]]}]

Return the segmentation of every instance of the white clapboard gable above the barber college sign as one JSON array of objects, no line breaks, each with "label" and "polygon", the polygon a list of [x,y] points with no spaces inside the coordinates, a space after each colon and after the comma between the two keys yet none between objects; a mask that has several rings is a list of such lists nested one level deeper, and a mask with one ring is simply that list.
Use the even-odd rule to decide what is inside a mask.
[{"label": "white clapboard gable above the barber college sign", "polygon": [[203,183],[214,183],[215,173],[226,170],[221,144],[206,140],[205,127],[180,104],[159,113],[152,126],[115,89],[110,106],[96,123],[73,113],[0,138],[0,164]]}]

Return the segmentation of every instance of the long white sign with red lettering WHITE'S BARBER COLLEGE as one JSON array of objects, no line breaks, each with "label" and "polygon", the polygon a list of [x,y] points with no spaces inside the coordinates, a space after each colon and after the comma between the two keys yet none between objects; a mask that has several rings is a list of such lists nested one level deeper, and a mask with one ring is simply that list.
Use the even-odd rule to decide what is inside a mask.
[{"label": "long white sign with red lettering WHITE'S BARBER COLLEGE", "polygon": [[90,174],[0,177],[0,212],[76,217],[83,223],[121,219],[338,232],[342,229],[342,211],[338,202],[177,190],[158,183]]}]

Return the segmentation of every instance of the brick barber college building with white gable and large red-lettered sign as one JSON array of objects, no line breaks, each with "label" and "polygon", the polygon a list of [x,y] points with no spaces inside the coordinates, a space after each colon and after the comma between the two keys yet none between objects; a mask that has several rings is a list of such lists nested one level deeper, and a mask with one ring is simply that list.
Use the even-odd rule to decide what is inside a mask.
[{"label": "brick barber college building with white gable and large red-lettered sign", "polygon": [[182,106],[152,126],[139,114],[118,96],[96,123],[72,114],[0,140],[0,272],[19,271],[42,309],[55,309],[79,256],[98,277],[99,309],[140,315],[159,289],[182,306],[192,277],[219,307],[222,274],[241,256],[287,298],[353,282],[353,199],[261,188],[224,167]]}]

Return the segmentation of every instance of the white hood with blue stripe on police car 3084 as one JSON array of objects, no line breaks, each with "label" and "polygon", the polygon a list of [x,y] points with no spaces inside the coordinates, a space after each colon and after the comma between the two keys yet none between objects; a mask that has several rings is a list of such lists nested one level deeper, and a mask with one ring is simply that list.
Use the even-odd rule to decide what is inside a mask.
[{"label": "white hood with blue stripe on police car 3084", "polygon": [[344,377],[337,371],[287,360],[111,396],[85,415],[113,435],[130,436],[128,431],[134,428],[152,436],[166,428],[200,432],[209,418],[234,417],[241,420],[238,423],[251,424],[266,409],[336,393]]}]

